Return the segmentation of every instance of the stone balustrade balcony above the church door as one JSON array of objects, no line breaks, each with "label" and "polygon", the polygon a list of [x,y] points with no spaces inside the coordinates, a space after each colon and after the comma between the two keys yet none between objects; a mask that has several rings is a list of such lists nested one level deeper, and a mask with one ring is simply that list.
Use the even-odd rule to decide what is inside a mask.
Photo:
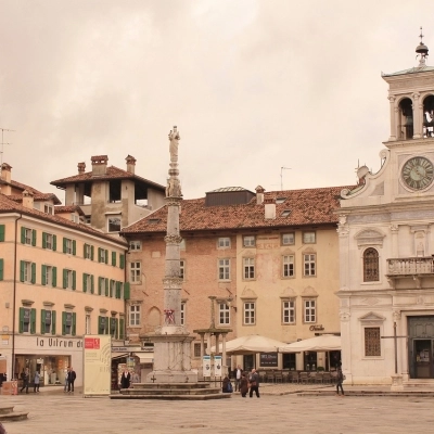
[{"label": "stone balustrade balcony above the church door", "polygon": [[434,256],[387,259],[386,277],[393,286],[398,279],[411,278],[421,289],[423,278],[434,277]]}]

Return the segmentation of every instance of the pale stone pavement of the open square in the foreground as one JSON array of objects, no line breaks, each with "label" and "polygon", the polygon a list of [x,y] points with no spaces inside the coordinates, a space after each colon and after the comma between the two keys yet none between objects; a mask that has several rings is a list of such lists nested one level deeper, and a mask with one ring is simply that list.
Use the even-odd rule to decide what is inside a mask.
[{"label": "pale stone pavement of the open square in the foreground", "polygon": [[0,396],[0,405],[29,411],[27,421],[5,423],[8,434],[64,433],[321,433],[431,432],[433,398],[297,396],[318,385],[261,385],[258,399],[207,401],[84,398],[77,391]]}]

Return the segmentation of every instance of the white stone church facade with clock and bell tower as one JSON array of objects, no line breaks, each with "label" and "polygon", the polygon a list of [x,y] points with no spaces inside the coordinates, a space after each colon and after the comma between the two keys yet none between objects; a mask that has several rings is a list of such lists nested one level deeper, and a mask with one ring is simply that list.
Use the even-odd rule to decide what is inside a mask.
[{"label": "white stone church facade with clock and bell tower", "polygon": [[381,167],[358,169],[337,212],[343,370],[393,390],[434,384],[434,67],[420,38],[417,66],[382,74],[391,133]]}]

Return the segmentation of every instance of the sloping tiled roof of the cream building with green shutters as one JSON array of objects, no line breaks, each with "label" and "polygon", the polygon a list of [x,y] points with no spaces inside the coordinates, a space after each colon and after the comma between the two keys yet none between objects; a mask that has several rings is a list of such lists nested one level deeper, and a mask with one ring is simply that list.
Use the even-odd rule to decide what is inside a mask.
[{"label": "sloping tiled roof of the cream building with green shutters", "polygon": [[51,222],[60,225],[60,226],[64,226],[67,228],[72,228],[72,229],[81,231],[81,232],[86,232],[86,233],[89,233],[92,235],[101,237],[105,240],[113,241],[114,243],[117,243],[120,245],[126,245],[125,241],[123,241],[120,239],[115,239],[114,237],[111,237],[108,234],[100,232],[97,229],[91,228],[90,226],[75,224],[74,221],[67,220],[66,218],[59,217],[55,215],[53,216],[51,214],[46,214],[46,213],[42,213],[35,208],[27,208],[16,202],[12,201],[11,199],[9,199],[9,196],[7,196],[4,194],[0,194],[0,214],[3,214],[3,213],[24,214],[27,216],[40,218],[41,220],[51,221]]}]

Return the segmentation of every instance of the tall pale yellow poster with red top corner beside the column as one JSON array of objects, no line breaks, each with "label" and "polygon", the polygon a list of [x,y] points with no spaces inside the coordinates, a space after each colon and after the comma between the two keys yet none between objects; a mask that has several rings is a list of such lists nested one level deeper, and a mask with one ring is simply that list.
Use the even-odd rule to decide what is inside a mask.
[{"label": "tall pale yellow poster with red top corner beside the column", "polygon": [[84,396],[110,395],[112,340],[107,335],[84,337]]}]

